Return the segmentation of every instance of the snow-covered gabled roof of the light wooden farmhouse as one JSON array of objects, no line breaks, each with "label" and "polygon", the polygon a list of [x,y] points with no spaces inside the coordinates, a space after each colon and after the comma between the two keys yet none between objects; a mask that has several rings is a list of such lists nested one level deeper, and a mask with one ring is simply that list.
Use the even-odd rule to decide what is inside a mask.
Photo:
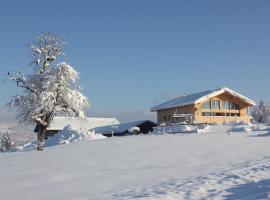
[{"label": "snow-covered gabled roof of the light wooden farmhouse", "polygon": [[207,101],[210,98],[223,94],[224,92],[227,92],[231,94],[232,96],[235,96],[241,99],[242,101],[244,101],[245,103],[249,105],[252,105],[252,106],[256,105],[256,103],[253,100],[239,94],[238,92],[235,92],[234,90],[230,88],[223,87],[223,88],[218,88],[215,90],[207,90],[207,91],[197,92],[194,94],[183,95],[181,97],[178,97],[170,101],[164,102],[162,104],[159,104],[157,106],[154,106],[153,108],[151,108],[151,111],[154,112],[158,110],[164,110],[164,109],[175,108],[179,106],[187,106],[187,105],[201,103],[201,102]]}]

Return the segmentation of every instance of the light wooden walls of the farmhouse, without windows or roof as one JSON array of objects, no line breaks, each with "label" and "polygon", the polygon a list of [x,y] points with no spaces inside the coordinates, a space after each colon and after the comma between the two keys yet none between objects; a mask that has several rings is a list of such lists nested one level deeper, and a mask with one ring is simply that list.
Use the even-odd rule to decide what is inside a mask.
[{"label": "light wooden walls of the farmhouse, without windows or roof", "polygon": [[[171,109],[165,109],[157,111],[157,123],[181,123],[185,121],[184,118],[179,118],[177,121],[173,119],[173,114],[194,114],[194,123],[224,123],[224,122],[251,122],[251,117],[247,113],[247,109],[249,108],[249,104],[243,102],[241,99],[236,98],[229,93],[223,93],[216,97],[210,99],[218,100],[220,102],[220,109],[211,110],[211,109],[203,109],[202,105],[205,102],[196,104],[196,105],[188,105],[181,106]],[[239,110],[223,110],[222,109],[222,101],[229,101],[239,105]],[[203,116],[203,112],[206,113],[220,113],[221,115],[236,115],[236,116]],[[237,116],[239,115],[239,116]]]}]

